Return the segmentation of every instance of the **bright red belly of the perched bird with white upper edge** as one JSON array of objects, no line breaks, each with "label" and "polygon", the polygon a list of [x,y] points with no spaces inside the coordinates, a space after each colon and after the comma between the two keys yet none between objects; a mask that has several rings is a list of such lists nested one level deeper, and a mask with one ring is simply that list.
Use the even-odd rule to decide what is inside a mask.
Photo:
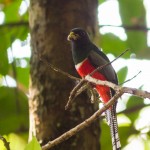
[{"label": "bright red belly of the perched bird with white upper edge", "polygon": [[[78,74],[81,77],[85,77],[86,75],[90,74],[91,72],[93,72],[96,69],[90,63],[90,61],[88,59],[83,60],[81,63],[77,64],[75,67],[76,67]],[[95,79],[99,79],[99,80],[106,80],[105,76],[98,71],[96,71],[92,75],[92,77]],[[99,95],[101,96],[102,101],[104,103],[107,103],[111,98],[110,88],[107,86],[102,86],[102,85],[95,85],[95,88],[96,88],[97,92],[99,93]]]}]

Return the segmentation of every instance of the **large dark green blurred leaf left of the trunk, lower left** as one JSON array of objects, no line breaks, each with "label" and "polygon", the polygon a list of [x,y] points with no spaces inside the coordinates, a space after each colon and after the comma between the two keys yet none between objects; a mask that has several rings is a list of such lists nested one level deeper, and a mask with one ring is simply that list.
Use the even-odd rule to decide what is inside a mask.
[{"label": "large dark green blurred leaf left of the trunk, lower left", "polygon": [[27,131],[27,96],[16,88],[0,87],[0,120],[1,134]]}]

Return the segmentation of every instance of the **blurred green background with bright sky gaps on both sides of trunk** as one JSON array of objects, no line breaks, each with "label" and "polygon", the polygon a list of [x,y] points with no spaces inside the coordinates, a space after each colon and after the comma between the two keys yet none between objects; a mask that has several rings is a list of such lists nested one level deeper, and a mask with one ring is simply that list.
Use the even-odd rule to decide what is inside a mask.
[{"label": "blurred green background with bright sky gaps on both sides of trunk", "polygon": [[[28,0],[0,0],[0,135],[10,141],[13,150],[23,150],[28,141],[31,55],[28,7]],[[142,71],[125,86],[143,90],[150,89],[149,10],[149,0],[99,0],[97,14],[100,36],[96,43],[108,57],[114,59],[125,49],[130,49],[113,63],[119,82],[123,83]],[[150,149],[149,105],[149,100],[130,95],[119,100],[117,110],[123,150]],[[110,133],[105,120],[101,128],[101,147],[110,149],[107,142],[111,139],[106,137]],[[1,140],[0,149],[5,150]]]}]

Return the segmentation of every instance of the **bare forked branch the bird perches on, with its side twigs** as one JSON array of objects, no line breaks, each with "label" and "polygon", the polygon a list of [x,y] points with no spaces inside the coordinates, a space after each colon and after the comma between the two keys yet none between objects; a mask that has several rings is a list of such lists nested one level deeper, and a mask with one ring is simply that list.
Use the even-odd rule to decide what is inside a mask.
[{"label": "bare forked branch the bird perches on, with its side twigs", "polygon": [[[126,50],[128,51],[128,50]],[[126,52],[125,51],[125,52]],[[125,52],[123,52],[120,56],[122,56]],[[120,57],[119,56],[119,57]],[[119,57],[117,57],[116,59],[118,59]],[[72,75],[69,75],[68,73],[54,67],[53,65],[47,63],[45,60],[42,60],[44,63],[46,63],[51,69],[62,73],[63,75],[74,79],[74,80],[79,80],[80,82],[75,86],[75,88],[71,91],[70,93],[70,97],[69,97],[69,101],[65,107],[65,109],[68,109],[71,102],[74,100],[74,98],[80,94],[83,90],[85,90],[86,88],[88,88],[88,86],[85,86],[85,84],[99,84],[99,85],[103,85],[103,86],[108,86],[110,88],[113,88],[116,91],[116,94],[110,99],[110,101],[108,101],[100,110],[96,111],[90,118],[86,119],[84,122],[82,122],[81,124],[77,125],[76,127],[70,129],[69,131],[65,132],[64,134],[62,134],[61,136],[59,136],[58,138],[54,139],[53,141],[49,141],[47,144],[45,144],[44,146],[42,146],[42,150],[47,150],[50,149],[52,147],[54,147],[55,145],[60,144],[61,142],[64,142],[65,140],[69,139],[70,137],[72,137],[73,135],[77,134],[79,131],[83,130],[84,128],[88,127],[91,123],[93,123],[97,118],[99,118],[99,116],[106,111],[111,105],[113,105],[117,99],[119,97],[121,97],[124,93],[129,93],[132,95],[136,95],[142,98],[149,98],[150,99],[150,93],[147,91],[142,91],[142,90],[138,90],[135,88],[128,88],[128,87],[121,87],[119,85],[115,85],[114,83],[108,82],[108,81],[102,81],[102,80],[98,80],[95,78],[92,78],[91,75],[95,72],[98,71],[99,69],[102,69],[103,67],[111,64],[112,62],[114,62],[116,59],[114,59],[113,61],[103,65],[102,67],[98,67],[96,70],[94,70],[91,74],[87,75],[85,77],[85,79],[79,79],[79,78],[75,78]],[[73,77],[73,78],[72,78]],[[81,89],[82,86],[85,86],[85,88]]]}]

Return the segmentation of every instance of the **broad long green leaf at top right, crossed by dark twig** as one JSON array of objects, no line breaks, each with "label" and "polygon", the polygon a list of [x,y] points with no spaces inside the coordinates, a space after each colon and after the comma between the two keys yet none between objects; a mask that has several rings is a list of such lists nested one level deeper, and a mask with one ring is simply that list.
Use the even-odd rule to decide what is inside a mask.
[{"label": "broad long green leaf at top right, crossed by dark twig", "polygon": [[[118,3],[123,25],[146,27],[145,8],[142,0],[120,0]],[[128,48],[139,58],[149,58],[150,48],[147,47],[147,33],[126,29],[126,34]]]}]

